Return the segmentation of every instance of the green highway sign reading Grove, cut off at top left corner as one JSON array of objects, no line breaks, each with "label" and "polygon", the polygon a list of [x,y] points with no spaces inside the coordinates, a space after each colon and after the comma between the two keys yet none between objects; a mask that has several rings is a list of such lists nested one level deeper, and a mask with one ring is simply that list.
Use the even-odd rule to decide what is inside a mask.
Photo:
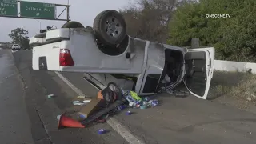
[{"label": "green highway sign reading Grove, cut off at top left corner", "polygon": [[0,16],[17,16],[17,0],[0,0]]}]

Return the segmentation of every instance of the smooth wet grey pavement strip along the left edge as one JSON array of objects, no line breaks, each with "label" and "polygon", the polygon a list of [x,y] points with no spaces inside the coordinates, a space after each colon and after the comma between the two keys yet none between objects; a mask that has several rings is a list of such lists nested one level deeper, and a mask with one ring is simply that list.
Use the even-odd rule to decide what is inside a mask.
[{"label": "smooth wet grey pavement strip along the left edge", "polygon": [[0,115],[1,143],[34,143],[25,90],[10,50],[0,50]]}]

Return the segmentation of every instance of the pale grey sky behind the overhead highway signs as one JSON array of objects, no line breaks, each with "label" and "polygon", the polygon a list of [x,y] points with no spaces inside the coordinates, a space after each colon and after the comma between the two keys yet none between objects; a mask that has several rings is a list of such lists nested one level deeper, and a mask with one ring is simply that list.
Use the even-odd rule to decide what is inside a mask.
[{"label": "pale grey sky behind the overhead highway signs", "polygon": [[[67,4],[68,0],[23,0],[30,2],[47,2]],[[96,15],[103,10],[119,10],[129,5],[132,0],[70,0],[70,19],[81,22],[83,26],[92,26]],[[65,7],[57,6],[57,15]],[[60,17],[66,19],[66,11]],[[55,25],[61,27],[65,21],[35,20],[23,18],[3,18],[0,17],[0,42],[10,42],[8,34],[17,27],[22,27],[29,31],[29,37],[39,33],[40,23],[42,29],[46,26]]]}]

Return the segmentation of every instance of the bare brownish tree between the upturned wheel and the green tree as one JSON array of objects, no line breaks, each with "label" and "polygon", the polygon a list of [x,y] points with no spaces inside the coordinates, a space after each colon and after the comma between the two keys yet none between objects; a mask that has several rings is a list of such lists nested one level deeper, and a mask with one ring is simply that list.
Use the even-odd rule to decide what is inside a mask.
[{"label": "bare brownish tree between the upturned wheel and the green tree", "polygon": [[125,10],[123,14],[127,34],[156,42],[166,42],[168,25],[175,7],[185,0],[138,0]]}]

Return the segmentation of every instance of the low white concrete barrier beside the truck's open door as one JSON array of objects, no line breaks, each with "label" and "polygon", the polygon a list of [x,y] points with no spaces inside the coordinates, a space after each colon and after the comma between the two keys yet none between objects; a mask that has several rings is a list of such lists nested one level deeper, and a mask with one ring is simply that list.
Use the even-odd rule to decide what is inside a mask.
[{"label": "low white concrete barrier beside the truck's open door", "polygon": [[251,73],[256,74],[256,63],[215,60],[214,70],[239,72],[247,72],[251,70]]}]

